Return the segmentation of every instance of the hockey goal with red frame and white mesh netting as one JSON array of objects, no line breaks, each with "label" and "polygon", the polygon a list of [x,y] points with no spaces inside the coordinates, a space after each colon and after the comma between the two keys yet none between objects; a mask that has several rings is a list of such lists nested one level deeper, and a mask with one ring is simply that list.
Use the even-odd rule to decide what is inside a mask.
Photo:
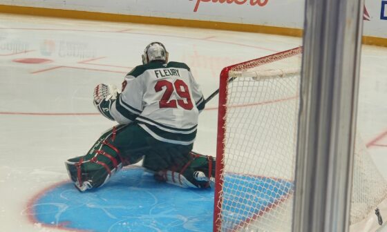
[{"label": "hockey goal with red frame and white mesh netting", "polygon": [[[291,231],[302,48],[220,74],[214,231]],[[351,224],[387,198],[356,140]]]}]

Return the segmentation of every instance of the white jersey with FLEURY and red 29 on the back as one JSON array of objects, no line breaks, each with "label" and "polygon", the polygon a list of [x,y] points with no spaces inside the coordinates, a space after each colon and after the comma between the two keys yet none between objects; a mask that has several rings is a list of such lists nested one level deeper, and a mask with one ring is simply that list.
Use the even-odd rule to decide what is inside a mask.
[{"label": "white jersey with FLEURY and red 29 on the back", "polygon": [[155,139],[189,145],[204,108],[200,87],[186,64],[155,61],[126,75],[110,112],[118,123],[136,122]]}]

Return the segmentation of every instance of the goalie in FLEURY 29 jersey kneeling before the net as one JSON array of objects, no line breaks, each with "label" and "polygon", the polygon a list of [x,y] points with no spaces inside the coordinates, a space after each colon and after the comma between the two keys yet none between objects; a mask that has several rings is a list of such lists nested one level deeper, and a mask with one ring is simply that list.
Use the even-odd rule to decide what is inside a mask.
[{"label": "goalie in FLEURY 29 jersey kneeling before the net", "polygon": [[214,184],[215,159],[191,151],[205,108],[200,86],[186,64],[168,61],[162,43],[145,48],[142,65],[126,75],[122,90],[99,84],[93,95],[97,110],[118,125],[86,155],[66,161],[79,191],[102,186],[120,168],[142,159],[158,181],[194,188]]}]

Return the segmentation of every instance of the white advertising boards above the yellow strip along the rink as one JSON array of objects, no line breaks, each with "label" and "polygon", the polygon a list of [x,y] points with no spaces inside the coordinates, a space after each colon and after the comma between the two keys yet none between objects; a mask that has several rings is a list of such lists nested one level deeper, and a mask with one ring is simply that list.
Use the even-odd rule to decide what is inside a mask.
[{"label": "white advertising boards above the yellow strip along the rink", "polygon": [[[303,28],[304,0],[0,0],[0,4]],[[387,0],[366,0],[364,35],[387,38]]]}]

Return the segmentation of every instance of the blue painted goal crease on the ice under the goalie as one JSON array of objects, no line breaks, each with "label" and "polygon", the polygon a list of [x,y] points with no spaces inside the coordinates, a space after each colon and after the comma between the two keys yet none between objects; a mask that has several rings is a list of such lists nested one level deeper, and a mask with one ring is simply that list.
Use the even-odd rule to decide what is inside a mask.
[{"label": "blue painted goal crease on the ice under the goalie", "polygon": [[[291,182],[267,177],[227,174],[225,180],[231,184],[223,194],[223,217],[236,222],[292,190]],[[205,232],[212,231],[214,190],[182,189],[156,182],[143,168],[123,168],[100,189],[79,193],[73,183],[61,184],[32,207],[37,222],[80,231]],[[244,213],[233,213],[238,207]]]}]

